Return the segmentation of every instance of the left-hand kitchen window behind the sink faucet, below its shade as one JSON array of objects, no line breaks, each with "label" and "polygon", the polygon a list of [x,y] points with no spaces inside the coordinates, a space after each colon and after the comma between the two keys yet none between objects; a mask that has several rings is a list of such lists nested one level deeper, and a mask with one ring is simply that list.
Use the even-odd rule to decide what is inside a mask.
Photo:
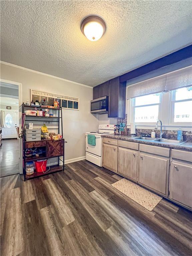
[{"label": "left-hand kitchen window behind the sink faucet, below its shade", "polygon": [[135,123],[155,123],[159,118],[161,93],[132,99],[132,114]]}]

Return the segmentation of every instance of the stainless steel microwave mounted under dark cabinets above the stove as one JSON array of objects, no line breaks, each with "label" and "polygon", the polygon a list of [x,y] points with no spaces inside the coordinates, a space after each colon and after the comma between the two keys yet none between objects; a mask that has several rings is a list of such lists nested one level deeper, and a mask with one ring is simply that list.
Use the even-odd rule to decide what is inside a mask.
[{"label": "stainless steel microwave mounted under dark cabinets above the stove", "polygon": [[95,113],[95,114],[108,113],[108,96],[91,100],[91,113]]}]

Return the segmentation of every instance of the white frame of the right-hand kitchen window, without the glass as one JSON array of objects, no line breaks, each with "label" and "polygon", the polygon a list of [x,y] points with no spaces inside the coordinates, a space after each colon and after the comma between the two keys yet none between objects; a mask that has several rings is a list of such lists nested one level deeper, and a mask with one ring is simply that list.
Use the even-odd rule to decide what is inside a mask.
[{"label": "white frame of the right-hand kitchen window, without the glass", "polygon": [[192,101],[192,99],[175,100],[176,90],[170,91],[170,118],[169,125],[172,126],[192,126],[192,122],[174,122],[175,103]]}]

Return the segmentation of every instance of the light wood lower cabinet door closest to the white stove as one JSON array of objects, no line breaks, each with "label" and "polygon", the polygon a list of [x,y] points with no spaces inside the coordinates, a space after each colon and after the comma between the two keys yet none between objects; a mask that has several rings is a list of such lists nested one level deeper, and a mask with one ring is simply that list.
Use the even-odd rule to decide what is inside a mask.
[{"label": "light wood lower cabinet door closest to the white stove", "polygon": [[118,147],[103,143],[103,167],[117,172]]}]

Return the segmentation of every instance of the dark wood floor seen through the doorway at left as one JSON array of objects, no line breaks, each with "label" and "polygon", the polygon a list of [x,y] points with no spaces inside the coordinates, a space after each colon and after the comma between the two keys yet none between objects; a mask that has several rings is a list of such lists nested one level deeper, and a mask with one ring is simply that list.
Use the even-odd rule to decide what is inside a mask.
[{"label": "dark wood floor seen through the doorway at left", "polygon": [[19,173],[19,139],[6,139],[0,147],[0,177]]}]

